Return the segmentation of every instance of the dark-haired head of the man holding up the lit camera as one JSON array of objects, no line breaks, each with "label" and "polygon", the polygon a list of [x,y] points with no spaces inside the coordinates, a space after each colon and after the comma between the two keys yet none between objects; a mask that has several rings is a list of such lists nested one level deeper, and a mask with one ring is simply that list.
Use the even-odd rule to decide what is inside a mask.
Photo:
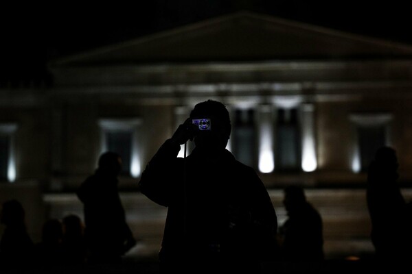
[{"label": "dark-haired head of the man holding up the lit camera", "polygon": [[190,112],[190,119],[210,119],[210,130],[199,130],[194,136],[196,147],[225,148],[231,133],[229,112],[219,101],[198,103]]}]

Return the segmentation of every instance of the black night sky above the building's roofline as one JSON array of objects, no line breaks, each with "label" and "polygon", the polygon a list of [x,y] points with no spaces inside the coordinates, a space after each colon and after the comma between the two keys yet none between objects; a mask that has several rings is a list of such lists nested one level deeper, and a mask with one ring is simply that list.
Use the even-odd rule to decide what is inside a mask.
[{"label": "black night sky above the building's roofline", "polygon": [[95,5],[5,6],[0,16],[0,80],[36,78],[47,60],[237,10],[330,27],[412,45],[407,1],[150,0]]}]

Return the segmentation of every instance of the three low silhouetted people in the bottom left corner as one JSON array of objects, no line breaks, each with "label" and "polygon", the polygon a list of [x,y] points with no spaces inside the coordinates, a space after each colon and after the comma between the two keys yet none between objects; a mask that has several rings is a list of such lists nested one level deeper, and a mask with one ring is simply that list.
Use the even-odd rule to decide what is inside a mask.
[{"label": "three low silhouetted people in the bottom left corner", "polygon": [[1,205],[0,273],[3,271],[52,270],[58,266],[81,265],[87,253],[80,216],[69,214],[62,221],[47,219],[41,227],[41,240],[34,242],[27,232],[25,210],[17,199]]}]

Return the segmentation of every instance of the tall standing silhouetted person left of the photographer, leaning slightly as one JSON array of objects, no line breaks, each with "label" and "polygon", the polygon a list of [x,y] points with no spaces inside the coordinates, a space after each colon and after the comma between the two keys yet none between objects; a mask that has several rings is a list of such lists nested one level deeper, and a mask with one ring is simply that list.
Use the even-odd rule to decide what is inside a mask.
[{"label": "tall standing silhouetted person left of the photographer, leaning slightly", "polygon": [[120,156],[111,151],[102,153],[98,169],[76,192],[83,203],[88,262],[120,263],[122,256],[136,244],[117,189],[120,171]]}]

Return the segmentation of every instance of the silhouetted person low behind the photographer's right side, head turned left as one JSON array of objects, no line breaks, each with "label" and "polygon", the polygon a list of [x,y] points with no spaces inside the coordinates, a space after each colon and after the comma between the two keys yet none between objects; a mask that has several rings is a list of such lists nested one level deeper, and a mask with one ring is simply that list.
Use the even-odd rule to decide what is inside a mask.
[{"label": "silhouetted person low behind the photographer's right side, head turned left", "polygon": [[286,186],[283,203],[288,218],[278,233],[282,260],[321,262],[324,259],[321,214],[307,201],[300,186]]}]

